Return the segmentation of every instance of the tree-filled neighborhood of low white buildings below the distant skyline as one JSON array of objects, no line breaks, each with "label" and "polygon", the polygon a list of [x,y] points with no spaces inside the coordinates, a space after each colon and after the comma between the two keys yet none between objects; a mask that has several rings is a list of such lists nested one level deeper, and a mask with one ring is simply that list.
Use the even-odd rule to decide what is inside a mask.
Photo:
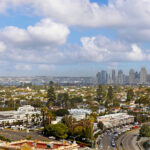
[{"label": "tree-filled neighborhood of low white buildings below the distant skyline", "polygon": [[13,143],[19,131],[22,140],[65,140],[77,143],[77,149],[106,149],[104,137],[114,136],[114,148],[120,134],[150,120],[149,94],[149,86],[60,86],[52,81],[1,86],[0,138]]}]

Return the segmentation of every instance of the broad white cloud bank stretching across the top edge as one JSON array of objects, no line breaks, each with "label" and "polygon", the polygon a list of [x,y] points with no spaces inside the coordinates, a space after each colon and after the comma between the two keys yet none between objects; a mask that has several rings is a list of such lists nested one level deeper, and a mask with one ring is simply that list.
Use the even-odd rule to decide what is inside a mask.
[{"label": "broad white cloud bank stretching across the top edge", "polygon": [[[37,15],[68,25],[87,27],[149,27],[149,0],[109,0],[98,5],[90,0],[1,0],[0,10],[32,6]],[[142,23],[141,23],[142,22]]]}]

